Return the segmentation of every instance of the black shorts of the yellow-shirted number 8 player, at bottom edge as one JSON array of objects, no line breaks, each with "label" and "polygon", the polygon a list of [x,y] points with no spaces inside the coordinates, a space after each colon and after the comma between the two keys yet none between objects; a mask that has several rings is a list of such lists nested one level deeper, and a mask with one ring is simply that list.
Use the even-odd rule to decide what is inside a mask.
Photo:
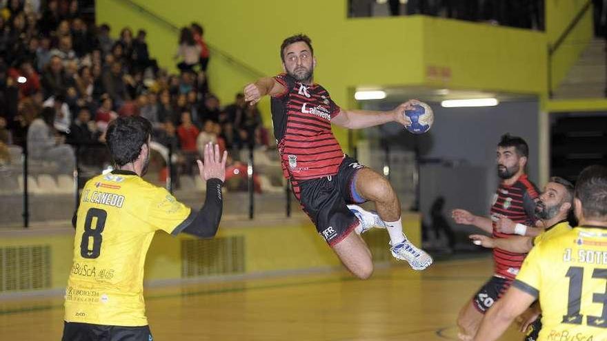
[{"label": "black shorts of the yellow-shirted number 8 player, at bottom edge", "polygon": [[152,341],[149,326],[123,327],[63,321],[61,341]]}]

